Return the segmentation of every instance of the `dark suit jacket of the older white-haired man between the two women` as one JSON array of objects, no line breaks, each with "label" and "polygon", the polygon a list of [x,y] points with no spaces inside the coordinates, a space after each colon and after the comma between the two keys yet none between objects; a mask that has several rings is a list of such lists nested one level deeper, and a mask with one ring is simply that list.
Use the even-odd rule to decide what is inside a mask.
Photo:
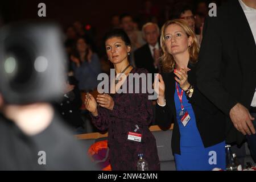
[{"label": "dark suit jacket of the older white-haired man between the two women", "polygon": [[158,73],[158,69],[155,69],[154,59],[148,44],[145,44],[134,52],[134,60],[137,68],[145,68],[149,73]]}]

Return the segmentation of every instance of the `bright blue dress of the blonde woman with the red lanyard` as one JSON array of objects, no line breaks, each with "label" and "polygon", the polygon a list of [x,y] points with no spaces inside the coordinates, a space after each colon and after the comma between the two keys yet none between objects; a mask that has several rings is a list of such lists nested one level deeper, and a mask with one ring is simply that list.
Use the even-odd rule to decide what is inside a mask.
[{"label": "bright blue dress of the blonde woman with the red lanyard", "polygon": [[[179,84],[178,84],[179,85]],[[175,84],[176,87],[176,84]],[[179,93],[181,89],[179,87]],[[225,162],[225,141],[214,146],[205,148],[196,126],[196,118],[191,104],[188,103],[185,93],[183,93],[182,102],[184,110],[188,111],[191,119],[187,125],[180,121],[181,104],[175,89],[175,107],[177,114],[177,123],[180,131],[180,155],[174,154],[176,169],[180,170],[212,170],[213,168],[226,168]],[[207,121],[204,121],[207,122]],[[217,132],[217,131],[216,131]]]}]

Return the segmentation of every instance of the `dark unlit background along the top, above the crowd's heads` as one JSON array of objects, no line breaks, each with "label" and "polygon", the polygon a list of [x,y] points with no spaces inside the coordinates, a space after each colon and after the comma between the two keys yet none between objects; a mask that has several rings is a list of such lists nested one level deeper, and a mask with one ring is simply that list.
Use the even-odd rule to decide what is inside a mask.
[{"label": "dark unlit background along the top, above the crowd's heads", "polygon": [[[152,0],[158,8],[159,16],[164,19],[168,6],[175,2],[185,1],[195,5],[199,0]],[[46,17],[38,17],[38,4],[46,4]],[[110,19],[113,14],[129,13],[138,16],[145,0],[0,0],[0,15],[5,23],[17,20],[53,20],[63,29],[75,20],[90,24],[96,35],[96,42],[102,38],[110,28]],[[172,8],[175,8],[172,6]]]}]

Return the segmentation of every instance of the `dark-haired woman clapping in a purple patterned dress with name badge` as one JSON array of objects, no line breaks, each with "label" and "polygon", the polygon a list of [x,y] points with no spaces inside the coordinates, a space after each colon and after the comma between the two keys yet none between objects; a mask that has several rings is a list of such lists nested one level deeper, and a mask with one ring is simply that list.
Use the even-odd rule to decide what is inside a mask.
[{"label": "dark-haired woman clapping in a purple patterned dress with name badge", "polygon": [[[92,114],[92,122],[100,130],[108,130],[108,145],[110,148],[110,164],[113,170],[136,170],[138,154],[148,162],[149,170],[159,170],[159,158],[156,141],[148,126],[152,120],[152,102],[148,93],[142,93],[142,81],[133,84],[133,93],[117,93],[121,87],[132,79],[129,73],[147,74],[145,69],[137,69],[129,64],[131,43],[127,34],[121,29],[110,31],[105,38],[108,59],[114,64],[117,76],[114,94],[99,94],[94,98],[86,97],[86,109]],[[123,73],[125,77],[119,77]],[[126,82],[125,82],[126,80]],[[109,82],[113,80],[109,79]],[[139,93],[135,93],[136,88]],[[97,106],[98,103],[98,106]]]}]

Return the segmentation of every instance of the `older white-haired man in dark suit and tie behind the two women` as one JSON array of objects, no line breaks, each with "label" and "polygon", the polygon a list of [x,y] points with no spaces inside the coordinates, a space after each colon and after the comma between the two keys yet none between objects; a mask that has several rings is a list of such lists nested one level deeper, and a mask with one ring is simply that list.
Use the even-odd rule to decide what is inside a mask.
[{"label": "older white-haired man in dark suit and tie behind the two women", "polygon": [[147,44],[134,52],[135,65],[137,68],[146,68],[149,73],[158,73],[160,57],[158,25],[155,23],[144,24],[142,35]]}]

